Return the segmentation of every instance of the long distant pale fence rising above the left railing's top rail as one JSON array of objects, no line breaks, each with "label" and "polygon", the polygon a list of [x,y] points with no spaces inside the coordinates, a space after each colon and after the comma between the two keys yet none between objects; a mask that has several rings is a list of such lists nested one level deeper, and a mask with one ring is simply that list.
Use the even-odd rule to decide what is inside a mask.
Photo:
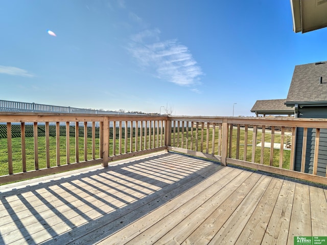
[{"label": "long distant pale fence rising above the left railing's top rail", "polygon": [[114,111],[91,110],[65,106],[51,106],[36,103],[3,101],[0,100],[0,111],[10,112],[57,112],[57,113],[82,113],[82,114],[117,114]]}]

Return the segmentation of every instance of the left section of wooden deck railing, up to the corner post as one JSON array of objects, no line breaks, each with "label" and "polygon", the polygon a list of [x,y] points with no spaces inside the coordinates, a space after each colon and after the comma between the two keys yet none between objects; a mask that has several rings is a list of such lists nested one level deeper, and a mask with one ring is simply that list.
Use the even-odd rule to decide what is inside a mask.
[{"label": "left section of wooden deck railing, up to the corner post", "polygon": [[6,135],[0,138],[0,183],[100,163],[107,166],[109,161],[165,150],[167,119],[1,112],[0,127],[6,128]]}]

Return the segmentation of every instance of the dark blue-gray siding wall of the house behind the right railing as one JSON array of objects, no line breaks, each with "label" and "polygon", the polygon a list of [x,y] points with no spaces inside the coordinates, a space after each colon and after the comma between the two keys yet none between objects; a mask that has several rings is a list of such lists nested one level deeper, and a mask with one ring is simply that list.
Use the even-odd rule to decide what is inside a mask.
[{"label": "dark blue-gray siding wall of the house behind the right railing", "polygon": [[[327,107],[299,108],[299,118],[327,118]],[[316,129],[308,129],[305,173],[312,174]],[[297,128],[295,149],[295,170],[301,170],[303,128]],[[320,130],[317,175],[326,176],[327,165],[327,130]]]}]

